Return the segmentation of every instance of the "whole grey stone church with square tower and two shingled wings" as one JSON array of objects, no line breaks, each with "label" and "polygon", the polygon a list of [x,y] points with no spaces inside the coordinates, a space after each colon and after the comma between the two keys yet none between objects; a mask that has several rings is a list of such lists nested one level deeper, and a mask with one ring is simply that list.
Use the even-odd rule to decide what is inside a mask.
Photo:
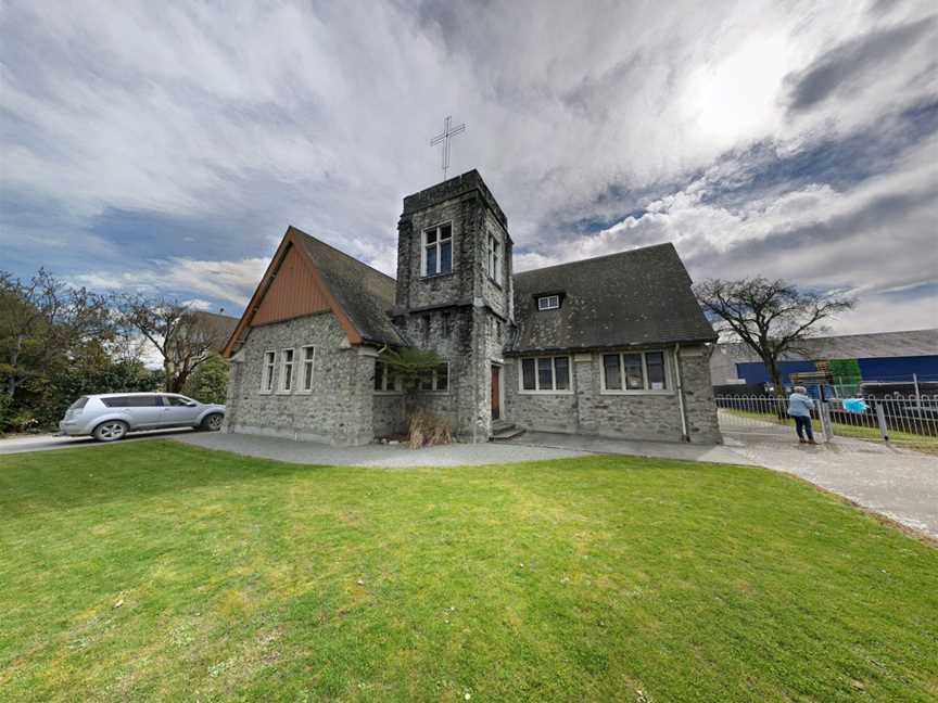
[{"label": "whole grey stone church with square tower and two shingled wings", "polygon": [[229,340],[228,432],[358,445],[405,430],[385,348],[445,362],[411,402],[456,437],[720,440],[715,341],[671,244],[512,271],[478,171],[404,199],[397,278],[290,227]]}]

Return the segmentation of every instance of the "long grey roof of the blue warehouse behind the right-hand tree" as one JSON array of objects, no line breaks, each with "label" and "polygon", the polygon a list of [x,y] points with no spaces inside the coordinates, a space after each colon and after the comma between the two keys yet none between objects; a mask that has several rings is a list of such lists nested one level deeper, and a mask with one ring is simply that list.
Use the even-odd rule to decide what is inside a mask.
[{"label": "long grey roof of the blue warehouse behind the right-hand tree", "polygon": [[[816,361],[938,356],[938,329],[821,336],[804,340],[799,346],[801,348],[798,352],[786,354],[783,358]],[[726,342],[718,348],[736,362],[762,361],[741,342]]]}]

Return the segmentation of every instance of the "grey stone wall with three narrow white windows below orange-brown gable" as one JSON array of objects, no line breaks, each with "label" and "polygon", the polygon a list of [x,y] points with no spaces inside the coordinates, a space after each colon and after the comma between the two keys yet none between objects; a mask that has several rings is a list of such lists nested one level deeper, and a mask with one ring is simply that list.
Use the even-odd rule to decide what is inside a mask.
[{"label": "grey stone wall with three narrow white windows below orange-brown gable", "polygon": [[[310,344],[316,347],[313,388],[305,393],[300,391],[301,347]],[[289,393],[279,391],[284,348],[295,349],[295,382]],[[267,350],[277,352],[272,393],[262,391]],[[371,442],[375,358],[369,353],[373,350],[348,346],[331,312],[252,328],[232,358],[226,431],[337,445]]]}]

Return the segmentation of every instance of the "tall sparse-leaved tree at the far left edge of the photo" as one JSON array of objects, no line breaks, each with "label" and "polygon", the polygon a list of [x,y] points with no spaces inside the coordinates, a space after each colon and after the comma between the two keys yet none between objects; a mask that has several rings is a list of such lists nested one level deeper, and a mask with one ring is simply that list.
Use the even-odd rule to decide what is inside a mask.
[{"label": "tall sparse-leaved tree at the far left edge of the photo", "polygon": [[113,334],[103,296],[72,287],[42,268],[28,281],[0,271],[0,376],[8,398],[75,345],[106,342]]}]

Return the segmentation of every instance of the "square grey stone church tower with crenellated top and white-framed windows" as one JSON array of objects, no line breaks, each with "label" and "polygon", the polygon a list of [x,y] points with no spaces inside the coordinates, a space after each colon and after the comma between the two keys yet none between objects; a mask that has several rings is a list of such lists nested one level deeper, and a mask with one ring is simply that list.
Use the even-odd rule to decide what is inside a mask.
[{"label": "square grey stone church tower with crenellated top and white-framed windows", "polygon": [[[479,171],[404,199],[397,222],[394,322],[448,365],[419,402],[448,417],[462,440],[487,442],[514,324],[508,220]],[[495,384],[493,386],[493,384]]]}]

